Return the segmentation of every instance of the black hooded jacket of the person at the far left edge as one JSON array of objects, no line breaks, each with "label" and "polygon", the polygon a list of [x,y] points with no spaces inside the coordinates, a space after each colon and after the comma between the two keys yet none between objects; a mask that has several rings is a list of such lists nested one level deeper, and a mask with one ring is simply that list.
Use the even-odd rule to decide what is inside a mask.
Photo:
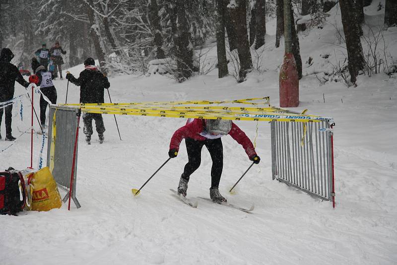
[{"label": "black hooded jacket of the person at the far left edge", "polygon": [[23,79],[22,74],[18,68],[11,64],[11,59],[14,57],[11,50],[3,48],[0,55],[0,101],[7,101],[14,96],[15,81],[24,87],[28,87],[29,83]]}]

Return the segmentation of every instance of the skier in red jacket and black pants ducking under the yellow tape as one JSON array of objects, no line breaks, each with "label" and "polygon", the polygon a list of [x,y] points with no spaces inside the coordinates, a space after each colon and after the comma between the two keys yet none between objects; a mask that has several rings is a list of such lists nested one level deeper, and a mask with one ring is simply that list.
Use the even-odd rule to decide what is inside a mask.
[{"label": "skier in red jacket and black pants ducking under the yellow tape", "polygon": [[189,162],[181,175],[178,193],[186,196],[190,175],[199,168],[201,163],[201,149],[205,145],[212,159],[211,188],[209,196],[213,201],[221,202],[226,199],[219,193],[219,181],[223,168],[223,146],[220,137],[230,134],[241,144],[250,160],[258,164],[261,158],[255,152],[254,145],[247,135],[230,120],[189,119],[184,127],[179,128],[172,135],[168,155],[174,158],[178,155],[179,145],[185,138]]}]

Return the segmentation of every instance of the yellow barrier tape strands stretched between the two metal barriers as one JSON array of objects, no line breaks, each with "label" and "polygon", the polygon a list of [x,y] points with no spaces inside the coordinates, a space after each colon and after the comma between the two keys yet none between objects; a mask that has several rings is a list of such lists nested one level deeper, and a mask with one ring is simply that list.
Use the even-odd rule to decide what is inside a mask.
[{"label": "yellow barrier tape strands stretched between the two metal barriers", "polygon": [[[253,103],[254,100],[265,102]],[[230,107],[213,106],[211,104],[252,104],[268,105],[269,107]],[[225,119],[234,121],[279,121],[279,122],[319,122],[329,118],[315,115],[305,115],[272,107],[269,97],[248,98],[229,101],[171,101],[171,102],[133,102],[133,103],[87,103],[87,104],[62,104],[66,106],[80,106],[81,111],[98,114],[118,114],[135,116],[171,117],[171,118],[196,118],[196,119]],[[193,105],[193,106],[189,106]],[[207,105],[207,106],[202,106]],[[211,105],[211,106],[208,106]]]}]

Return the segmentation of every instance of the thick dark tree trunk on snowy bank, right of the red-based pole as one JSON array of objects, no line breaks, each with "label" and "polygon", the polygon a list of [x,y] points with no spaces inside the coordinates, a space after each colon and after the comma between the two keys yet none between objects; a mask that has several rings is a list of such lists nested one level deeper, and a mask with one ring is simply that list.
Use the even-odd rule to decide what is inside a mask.
[{"label": "thick dark tree trunk on snowy bank, right of the red-based pole", "polygon": [[354,14],[354,5],[350,0],[339,0],[343,32],[346,40],[347,60],[350,81],[355,83],[358,71],[364,69],[365,61],[360,42],[360,33]]}]

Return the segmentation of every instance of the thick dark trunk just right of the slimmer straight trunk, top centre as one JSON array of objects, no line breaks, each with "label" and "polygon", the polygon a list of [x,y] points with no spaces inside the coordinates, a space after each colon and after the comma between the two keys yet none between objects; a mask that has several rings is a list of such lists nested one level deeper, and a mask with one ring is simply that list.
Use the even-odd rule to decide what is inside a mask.
[{"label": "thick dark trunk just right of the slimmer straight trunk, top centre", "polygon": [[237,33],[237,51],[240,61],[239,77],[240,82],[242,82],[253,66],[248,42],[246,1],[236,0],[236,3],[237,6],[231,6],[229,12]]}]

